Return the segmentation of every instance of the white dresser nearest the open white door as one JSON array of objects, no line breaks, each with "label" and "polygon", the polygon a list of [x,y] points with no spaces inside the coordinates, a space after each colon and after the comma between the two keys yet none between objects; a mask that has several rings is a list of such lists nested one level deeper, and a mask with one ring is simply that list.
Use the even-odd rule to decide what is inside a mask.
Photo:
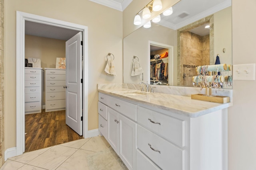
[{"label": "white dresser nearest the open white door", "polygon": [[66,109],[66,70],[45,68],[45,111]]}]

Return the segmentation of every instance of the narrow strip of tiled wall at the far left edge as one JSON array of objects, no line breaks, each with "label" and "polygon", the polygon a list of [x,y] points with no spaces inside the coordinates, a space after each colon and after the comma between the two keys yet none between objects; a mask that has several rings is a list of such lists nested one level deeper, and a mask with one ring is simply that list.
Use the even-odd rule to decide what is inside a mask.
[{"label": "narrow strip of tiled wall at the far left edge", "polygon": [[4,163],[4,0],[0,0],[0,167]]}]

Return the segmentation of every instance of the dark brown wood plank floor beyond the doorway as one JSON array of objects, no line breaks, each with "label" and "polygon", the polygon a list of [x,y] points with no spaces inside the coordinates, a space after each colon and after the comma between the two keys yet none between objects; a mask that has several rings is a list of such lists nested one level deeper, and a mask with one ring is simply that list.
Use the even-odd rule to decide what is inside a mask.
[{"label": "dark brown wood plank floor beyond the doorway", "polygon": [[66,125],[66,112],[51,111],[25,115],[25,152],[82,139]]}]

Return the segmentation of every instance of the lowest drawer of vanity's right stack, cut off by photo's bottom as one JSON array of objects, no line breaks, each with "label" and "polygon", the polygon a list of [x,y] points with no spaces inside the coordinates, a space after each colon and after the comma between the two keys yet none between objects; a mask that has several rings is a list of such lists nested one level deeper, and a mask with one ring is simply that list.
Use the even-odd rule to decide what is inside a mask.
[{"label": "lowest drawer of vanity's right stack, cut off by photo's bottom", "polygon": [[137,170],[161,170],[140,150],[136,150],[136,168]]}]

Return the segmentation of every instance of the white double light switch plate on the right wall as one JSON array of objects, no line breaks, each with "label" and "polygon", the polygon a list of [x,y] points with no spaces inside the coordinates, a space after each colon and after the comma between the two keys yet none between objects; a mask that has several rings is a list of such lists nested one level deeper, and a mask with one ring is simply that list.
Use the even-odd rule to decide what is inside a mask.
[{"label": "white double light switch plate on the right wall", "polygon": [[233,65],[233,80],[255,80],[254,64]]}]

